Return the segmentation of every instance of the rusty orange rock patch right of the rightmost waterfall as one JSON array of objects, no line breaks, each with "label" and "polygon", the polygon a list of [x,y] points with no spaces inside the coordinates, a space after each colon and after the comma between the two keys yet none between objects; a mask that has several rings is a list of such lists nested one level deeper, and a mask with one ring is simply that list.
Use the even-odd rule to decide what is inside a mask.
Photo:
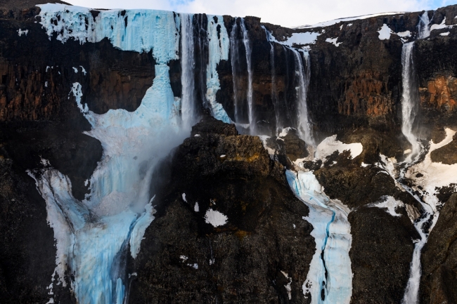
[{"label": "rusty orange rock patch right of the rightmost waterfall", "polygon": [[419,90],[423,107],[435,107],[443,112],[457,110],[457,78],[438,76],[427,81],[426,88]]}]

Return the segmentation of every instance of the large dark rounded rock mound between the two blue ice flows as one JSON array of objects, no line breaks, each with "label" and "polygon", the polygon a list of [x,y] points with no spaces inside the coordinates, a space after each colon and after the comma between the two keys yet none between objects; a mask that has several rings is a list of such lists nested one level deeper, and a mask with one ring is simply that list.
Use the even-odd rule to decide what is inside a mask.
[{"label": "large dark rounded rock mound between the two blue ice flows", "polygon": [[309,211],[259,138],[205,118],[168,166],[131,303],[309,303]]}]

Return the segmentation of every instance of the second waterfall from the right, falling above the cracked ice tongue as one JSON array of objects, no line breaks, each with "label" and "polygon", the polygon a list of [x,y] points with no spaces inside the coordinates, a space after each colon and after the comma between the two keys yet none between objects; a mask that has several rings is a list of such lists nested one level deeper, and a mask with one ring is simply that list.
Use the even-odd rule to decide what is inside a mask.
[{"label": "second waterfall from the right, falling above the cracked ice tongue", "polygon": [[304,140],[308,145],[314,146],[314,137],[311,131],[311,122],[308,116],[308,105],[307,105],[307,93],[310,78],[310,67],[309,67],[309,53],[303,52],[307,71],[304,71],[302,56],[299,51],[294,48],[290,48],[295,55],[295,74],[298,75],[298,86],[297,86],[297,129],[300,134],[300,138]]}]

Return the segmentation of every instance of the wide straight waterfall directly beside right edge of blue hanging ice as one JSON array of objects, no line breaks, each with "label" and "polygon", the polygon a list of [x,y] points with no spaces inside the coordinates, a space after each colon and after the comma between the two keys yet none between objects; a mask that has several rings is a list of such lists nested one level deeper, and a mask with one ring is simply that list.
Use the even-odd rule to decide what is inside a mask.
[{"label": "wide straight waterfall directly beside right edge of blue hanging ice", "polygon": [[181,117],[186,128],[191,128],[197,117],[194,72],[193,15],[181,14]]}]

